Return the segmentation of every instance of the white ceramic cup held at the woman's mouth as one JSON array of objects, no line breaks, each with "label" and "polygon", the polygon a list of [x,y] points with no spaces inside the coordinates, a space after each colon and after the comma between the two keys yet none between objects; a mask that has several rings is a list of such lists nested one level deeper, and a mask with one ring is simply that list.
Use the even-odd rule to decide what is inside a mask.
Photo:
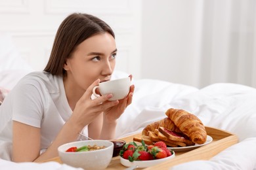
[{"label": "white ceramic cup held at the woman's mouth", "polygon": [[[109,101],[123,99],[127,96],[130,91],[131,80],[130,77],[119,78],[116,80],[110,80],[107,82],[100,82],[98,86],[93,88],[93,95],[95,97],[100,97],[100,95],[106,95],[108,93],[112,93],[113,97],[108,99]],[[96,88],[100,91],[100,95],[98,95],[95,91]]]}]

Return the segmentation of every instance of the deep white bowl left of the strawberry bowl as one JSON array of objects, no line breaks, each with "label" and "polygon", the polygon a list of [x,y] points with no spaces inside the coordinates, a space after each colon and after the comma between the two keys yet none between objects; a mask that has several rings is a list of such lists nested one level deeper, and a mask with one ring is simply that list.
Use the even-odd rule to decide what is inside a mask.
[{"label": "deep white bowl left of the strawberry bowl", "polygon": [[[77,146],[77,148],[85,145],[106,146],[100,150],[92,150],[88,152],[66,152],[68,148]],[[73,143],[62,144],[58,147],[58,155],[60,160],[72,167],[81,167],[83,169],[106,169],[112,159],[114,144],[106,140],[93,141],[76,141]]]}]

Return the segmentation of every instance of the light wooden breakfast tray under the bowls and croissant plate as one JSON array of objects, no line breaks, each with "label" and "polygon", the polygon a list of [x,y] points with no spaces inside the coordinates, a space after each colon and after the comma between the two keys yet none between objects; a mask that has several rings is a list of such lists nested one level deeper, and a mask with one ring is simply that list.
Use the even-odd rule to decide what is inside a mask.
[{"label": "light wooden breakfast tray under the bowls and croissant plate", "polygon": [[[194,161],[194,160],[209,160],[222,150],[228,148],[229,146],[238,143],[238,137],[228,131],[224,131],[222,129],[216,129],[213,127],[205,126],[207,131],[207,135],[213,138],[213,141],[205,146],[201,146],[200,148],[195,148],[194,150],[175,152],[176,157],[172,160],[165,161],[153,167],[148,167],[146,169],[169,169],[174,165],[178,165],[180,163]],[[141,133],[130,135],[128,137],[122,138],[127,143],[133,141],[133,137],[140,137]],[[47,161],[58,161],[62,163],[60,158],[56,157]],[[108,165],[107,169],[126,169],[127,167],[121,165],[119,156],[112,158],[110,165]]]}]

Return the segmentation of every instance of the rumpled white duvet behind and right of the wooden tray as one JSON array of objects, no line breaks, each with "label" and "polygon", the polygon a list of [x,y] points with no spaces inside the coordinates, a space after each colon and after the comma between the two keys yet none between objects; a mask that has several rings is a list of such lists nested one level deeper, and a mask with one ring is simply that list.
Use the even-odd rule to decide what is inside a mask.
[{"label": "rumpled white duvet behind and right of the wooden tray", "polygon": [[169,108],[196,114],[205,126],[238,135],[239,143],[211,160],[190,161],[171,169],[256,169],[256,89],[240,84],[212,84],[200,90],[160,80],[135,80],[133,104],[117,125],[117,137],[140,132],[165,117]]}]

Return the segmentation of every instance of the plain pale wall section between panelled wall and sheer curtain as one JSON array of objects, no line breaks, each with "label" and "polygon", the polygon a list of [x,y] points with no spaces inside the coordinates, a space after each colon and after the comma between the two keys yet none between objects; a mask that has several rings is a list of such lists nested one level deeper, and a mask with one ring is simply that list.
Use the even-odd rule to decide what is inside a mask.
[{"label": "plain pale wall section between panelled wall and sheer curtain", "polygon": [[[198,86],[202,3],[144,1],[142,76]],[[151,69],[150,69],[151,68]]]}]

